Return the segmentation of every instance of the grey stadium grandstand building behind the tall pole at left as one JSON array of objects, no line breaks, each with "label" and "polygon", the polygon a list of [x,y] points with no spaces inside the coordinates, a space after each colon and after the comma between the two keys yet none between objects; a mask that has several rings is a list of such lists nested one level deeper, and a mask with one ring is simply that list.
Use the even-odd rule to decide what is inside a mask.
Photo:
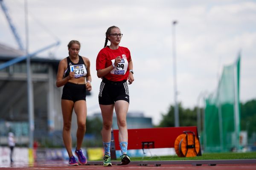
[{"label": "grey stadium grandstand building behind the tall pole at left", "polygon": [[[0,65],[21,56],[22,51],[0,44]],[[39,141],[62,130],[62,88],[55,85],[58,63],[58,59],[31,58],[34,138]],[[0,70],[0,144],[6,144],[9,131],[15,133],[17,144],[28,144],[27,96],[26,59]]]}]

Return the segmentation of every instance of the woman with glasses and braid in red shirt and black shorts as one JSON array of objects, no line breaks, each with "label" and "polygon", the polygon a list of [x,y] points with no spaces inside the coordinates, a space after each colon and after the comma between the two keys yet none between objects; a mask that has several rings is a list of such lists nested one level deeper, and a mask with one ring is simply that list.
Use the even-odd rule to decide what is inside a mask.
[{"label": "woman with glasses and braid in red shirt and black shorts", "polygon": [[[116,111],[119,128],[119,144],[122,152],[121,164],[130,163],[127,155],[128,131],[126,115],[129,107],[129,84],[134,81],[133,64],[128,48],[119,46],[122,34],[118,27],[111,26],[106,32],[104,48],[96,59],[97,76],[102,78],[99,89],[99,106],[102,112],[102,140],[105,149],[104,166],[112,166],[110,157],[113,109]],[[107,46],[108,40],[111,42]]]}]

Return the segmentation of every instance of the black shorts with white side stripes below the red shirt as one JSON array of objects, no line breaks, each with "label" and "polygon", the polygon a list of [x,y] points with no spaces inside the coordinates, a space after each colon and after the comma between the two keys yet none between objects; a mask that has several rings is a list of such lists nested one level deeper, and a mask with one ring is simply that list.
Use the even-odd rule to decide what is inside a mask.
[{"label": "black shorts with white side stripes below the red shirt", "polygon": [[127,81],[113,82],[103,79],[99,87],[99,104],[112,105],[117,100],[130,102]]}]

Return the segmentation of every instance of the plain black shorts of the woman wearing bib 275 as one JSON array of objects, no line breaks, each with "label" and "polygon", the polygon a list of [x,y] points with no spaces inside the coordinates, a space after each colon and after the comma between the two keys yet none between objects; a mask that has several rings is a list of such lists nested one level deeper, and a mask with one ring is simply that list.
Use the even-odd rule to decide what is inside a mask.
[{"label": "plain black shorts of the woman wearing bib 275", "polygon": [[67,82],[67,84],[64,85],[61,99],[72,100],[73,102],[76,102],[78,100],[86,100],[85,85],[78,85],[71,82]]}]

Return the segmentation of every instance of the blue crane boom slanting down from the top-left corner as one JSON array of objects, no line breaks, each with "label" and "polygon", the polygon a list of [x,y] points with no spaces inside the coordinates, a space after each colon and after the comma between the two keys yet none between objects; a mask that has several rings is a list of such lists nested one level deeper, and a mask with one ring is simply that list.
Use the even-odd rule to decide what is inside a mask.
[{"label": "blue crane boom slanting down from the top-left corner", "polygon": [[6,19],[7,19],[8,23],[9,23],[9,26],[10,26],[10,28],[12,29],[12,33],[13,33],[13,35],[14,35],[14,37],[15,37],[15,39],[16,39],[18,45],[19,45],[20,50],[21,50],[21,51],[24,51],[24,47],[23,47],[23,44],[22,44],[22,42],[21,42],[21,40],[20,40],[20,36],[19,36],[19,34],[17,33],[14,24],[12,23],[12,19],[11,19],[9,13],[8,13],[8,10],[7,10],[6,5],[4,4],[3,0],[0,0],[0,4],[1,4],[1,7],[2,7],[2,9],[3,9],[3,12],[4,12],[5,16],[6,16]]}]

